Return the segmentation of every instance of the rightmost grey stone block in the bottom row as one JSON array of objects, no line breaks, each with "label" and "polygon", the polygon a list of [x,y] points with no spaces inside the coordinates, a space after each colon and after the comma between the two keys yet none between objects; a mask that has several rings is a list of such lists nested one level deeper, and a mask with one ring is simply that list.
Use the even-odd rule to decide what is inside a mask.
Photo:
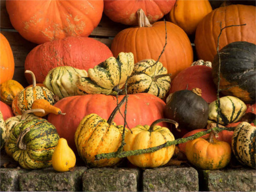
[{"label": "rightmost grey stone block in the bottom row", "polygon": [[204,190],[256,191],[256,172],[252,168],[203,170]]}]

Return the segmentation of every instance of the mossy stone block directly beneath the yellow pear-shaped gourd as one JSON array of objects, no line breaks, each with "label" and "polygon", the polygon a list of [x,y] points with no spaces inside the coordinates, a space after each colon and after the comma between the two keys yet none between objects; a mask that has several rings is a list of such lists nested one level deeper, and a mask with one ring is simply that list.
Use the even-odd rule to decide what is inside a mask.
[{"label": "mossy stone block directly beneath the yellow pear-shaped gourd", "polygon": [[76,167],[72,172],[56,172],[52,167],[21,174],[21,191],[80,191],[82,174],[87,167]]}]

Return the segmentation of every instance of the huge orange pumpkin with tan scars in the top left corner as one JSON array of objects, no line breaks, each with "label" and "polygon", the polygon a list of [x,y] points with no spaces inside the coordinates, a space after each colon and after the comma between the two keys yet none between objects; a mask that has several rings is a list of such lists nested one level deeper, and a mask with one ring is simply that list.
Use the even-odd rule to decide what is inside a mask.
[{"label": "huge orange pumpkin with tan scars in the top left corner", "polygon": [[103,1],[13,0],[6,1],[6,9],[20,35],[43,44],[66,36],[89,36],[100,22]]}]

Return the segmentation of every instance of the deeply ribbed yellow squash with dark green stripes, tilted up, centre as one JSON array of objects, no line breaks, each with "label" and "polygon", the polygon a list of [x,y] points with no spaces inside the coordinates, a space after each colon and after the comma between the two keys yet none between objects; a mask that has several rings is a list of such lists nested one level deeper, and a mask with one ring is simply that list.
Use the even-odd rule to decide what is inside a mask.
[{"label": "deeply ribbed yellow squash with dark green stripes, tilted up, centre", "polygon": [[117,58],[110,57],[88,70],[88,77],[81,77],[77,82],[78,94],[116,94],[134,69],[133,53],[119,53]]}]

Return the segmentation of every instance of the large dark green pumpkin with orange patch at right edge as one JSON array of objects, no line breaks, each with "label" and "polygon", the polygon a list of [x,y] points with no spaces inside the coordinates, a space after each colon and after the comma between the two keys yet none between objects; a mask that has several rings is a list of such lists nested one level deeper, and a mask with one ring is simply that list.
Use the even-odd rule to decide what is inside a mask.
[{"label": "large dark green pumpkin with orange patch at right edge", "polygon": [[[256,48],[245,41],[232,42],[220,50],[220,89],[246,103],[255,103]],[[212,62],[212,77],[218,85],[219,57]]]}]

